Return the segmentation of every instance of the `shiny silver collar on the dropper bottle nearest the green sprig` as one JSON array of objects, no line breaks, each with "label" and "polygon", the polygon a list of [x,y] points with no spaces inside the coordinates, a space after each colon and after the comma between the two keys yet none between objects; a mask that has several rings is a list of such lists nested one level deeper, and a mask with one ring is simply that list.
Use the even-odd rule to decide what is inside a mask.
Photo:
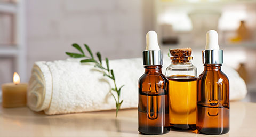
[{"label": "shiny silver collar on the dropper bottle nearest the green sprig", "polygon": [[143,65],[163,65],[162,51],[143,51]]}]

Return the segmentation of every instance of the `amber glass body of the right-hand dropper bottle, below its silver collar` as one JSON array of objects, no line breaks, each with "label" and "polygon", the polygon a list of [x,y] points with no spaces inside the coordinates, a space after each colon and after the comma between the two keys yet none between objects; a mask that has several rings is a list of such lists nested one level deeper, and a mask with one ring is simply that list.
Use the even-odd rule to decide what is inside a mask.
[{"label": "amber glass body of the right-hand dropper bottle, below its silver collar", "polygon": [[198,79],[197,130],[203,134],[229,131],[229,82],[219,65],[204,65]]}]

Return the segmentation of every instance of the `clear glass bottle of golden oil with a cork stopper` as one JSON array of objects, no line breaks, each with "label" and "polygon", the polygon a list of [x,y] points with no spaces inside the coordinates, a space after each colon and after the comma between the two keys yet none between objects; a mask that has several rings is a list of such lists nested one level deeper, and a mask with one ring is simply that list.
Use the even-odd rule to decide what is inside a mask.
[{"label": "clear glass bottle of golden oil with a cork stopper", "polygon": [[170,50],[169,123],[178,130],[196,129],[197,68],[191,63],[191,48]]}]

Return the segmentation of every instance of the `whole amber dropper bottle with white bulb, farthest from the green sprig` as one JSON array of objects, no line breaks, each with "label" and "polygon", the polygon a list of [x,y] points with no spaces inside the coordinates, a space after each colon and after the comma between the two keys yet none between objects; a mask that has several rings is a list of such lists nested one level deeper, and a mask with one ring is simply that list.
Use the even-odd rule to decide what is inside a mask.
[{"label": "whole amber dropper bottle with white bulb, farthest from the green sprig", "polygon": [[215,30],[206,33],[202,53],[204,71],[198,78],[197,130],[203,134],[225,134],[229,131],[229,80],[221,71],[223,50]]}]

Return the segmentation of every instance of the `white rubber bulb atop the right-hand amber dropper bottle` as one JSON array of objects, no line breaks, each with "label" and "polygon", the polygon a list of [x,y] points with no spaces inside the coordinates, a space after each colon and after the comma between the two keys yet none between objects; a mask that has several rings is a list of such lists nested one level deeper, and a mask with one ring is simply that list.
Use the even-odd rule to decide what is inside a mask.
[{"label": "white rubber bulb atop the right-hand amber dropper bottle", "polygon": [[209,30],[206,33],[205,50],[219,50],[218,33],[215,30]]}]

